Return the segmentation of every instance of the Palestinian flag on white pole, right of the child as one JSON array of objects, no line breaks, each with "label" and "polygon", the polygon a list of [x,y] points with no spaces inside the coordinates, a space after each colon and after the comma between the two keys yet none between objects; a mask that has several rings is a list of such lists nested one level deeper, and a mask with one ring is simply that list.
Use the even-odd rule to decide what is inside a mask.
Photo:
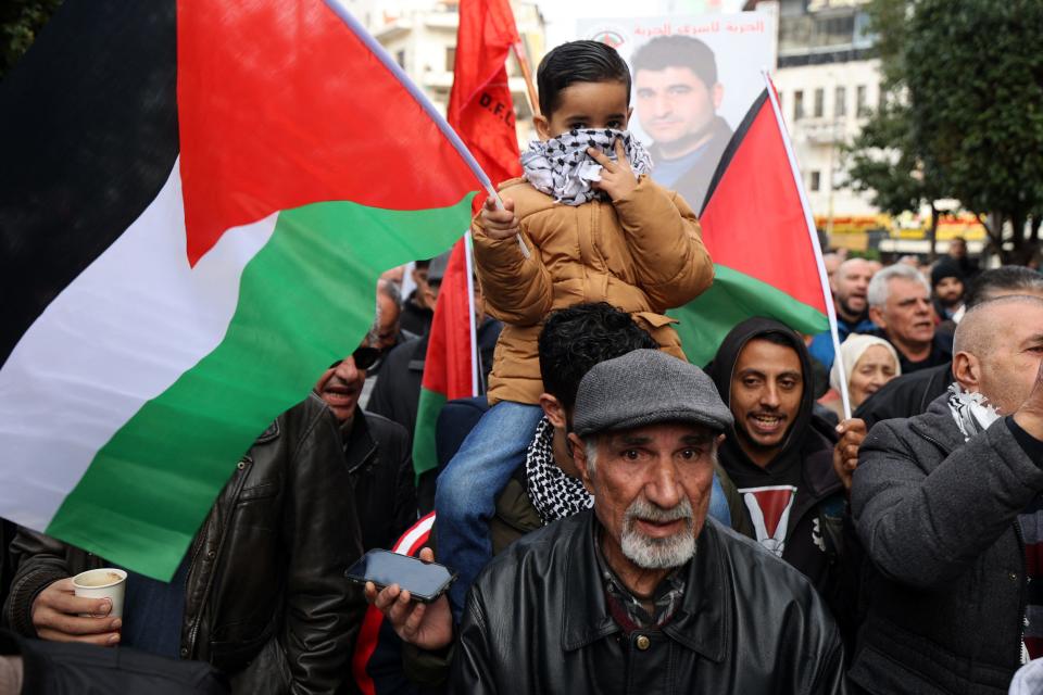
[{"label": "Palestinian flag on white pole, right of the child", "polygon": [[680,319],[677,332],[693,364],[708,363],[728,331],[751,316],[802,333],[829,330],[822,252],[770,81],[721,155],[699,222],[714,285],[668,312]]}]

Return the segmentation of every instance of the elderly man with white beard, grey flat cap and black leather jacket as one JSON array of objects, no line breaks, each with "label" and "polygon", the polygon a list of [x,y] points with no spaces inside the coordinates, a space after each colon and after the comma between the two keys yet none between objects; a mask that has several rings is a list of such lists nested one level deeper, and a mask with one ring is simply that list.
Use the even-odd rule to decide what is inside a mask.
[{"label": "elderly man with white beard, grey flat cap and black leather jacket", "polygon": [[580,383],[594,508],[501,553],[468,594],[456,693],[842,693],[843,647],[797,570],[706,516],[732,416],[693,365],[637,350]]}]

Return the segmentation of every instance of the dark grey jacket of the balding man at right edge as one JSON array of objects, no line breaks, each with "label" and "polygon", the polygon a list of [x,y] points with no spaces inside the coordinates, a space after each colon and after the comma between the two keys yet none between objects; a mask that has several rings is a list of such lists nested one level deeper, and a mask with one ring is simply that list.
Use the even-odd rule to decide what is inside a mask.
[{"label": "dark grey jacket of the balding man at right edge", "polygon": [[944,396],[862,445],[852,511],[868,615],[851,679],[877,695],[1001,695],[1019,666],[1026,557],[1018,515],[1043,470],[1005,420],[964,442]]}]

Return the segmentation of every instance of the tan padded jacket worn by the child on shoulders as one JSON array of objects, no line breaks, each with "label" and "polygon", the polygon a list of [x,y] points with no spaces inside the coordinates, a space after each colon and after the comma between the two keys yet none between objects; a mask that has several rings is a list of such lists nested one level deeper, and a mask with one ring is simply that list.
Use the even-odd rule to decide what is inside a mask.
[{"label": "tan padded jacket worn by the child on shoulders", "polygon": [[563,205],[523,179],[500,188],[514,201],[526,258],[512,237],[493,240],[475,222],[475,260],[489,314],[504,323],[489,402],[539,402],[543,383],[537,338],[548,313],[579,302],[608,302],[663,346],[684,357],[663,315],[699,296],[714,280],[699,222],[688,203],[642,177],[616,202]]}]

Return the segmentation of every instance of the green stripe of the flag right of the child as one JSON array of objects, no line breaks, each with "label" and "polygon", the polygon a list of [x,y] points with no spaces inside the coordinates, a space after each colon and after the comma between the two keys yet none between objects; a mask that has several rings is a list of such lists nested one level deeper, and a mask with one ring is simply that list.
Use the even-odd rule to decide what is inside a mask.
[{"label": "green stripe of the flag right of the child", "polygon": [[714,269],[714,283],[707,291],[667,312],[680,321],[677,332],[692,364],[706,365],[728,331],[751,316],[775,318],[807,334],[829,330],[825,314],[782,290],[722,265]]}]

